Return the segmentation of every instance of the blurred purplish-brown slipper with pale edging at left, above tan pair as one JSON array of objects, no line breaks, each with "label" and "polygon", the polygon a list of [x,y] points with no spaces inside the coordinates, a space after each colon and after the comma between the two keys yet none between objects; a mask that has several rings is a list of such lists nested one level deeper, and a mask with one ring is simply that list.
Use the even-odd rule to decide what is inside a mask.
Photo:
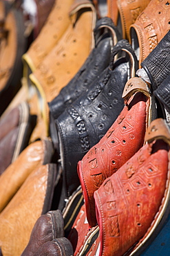
[{"label": "blurred purplish-brown slipper with pale edging at left, above tan pair", "polygon": [[0,174],[13,163],[28,146],[30,134],[34,129],[34,118],[30,115],[27,102],[22,102],[4,116],[0,122]]}]

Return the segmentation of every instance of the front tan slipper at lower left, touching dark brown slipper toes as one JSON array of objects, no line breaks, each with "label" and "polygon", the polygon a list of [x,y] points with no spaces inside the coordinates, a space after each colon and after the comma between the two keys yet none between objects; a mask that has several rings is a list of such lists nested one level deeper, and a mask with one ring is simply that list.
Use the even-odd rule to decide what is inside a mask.
[{"label": "front tan slipper at lower left, touching dark brown slipper toes", "polygon": [[0,214],[0,244],[3,256],[19,256],[28,244],[34,223],[50,210],[56,165],[41,165],[25,180]]}]

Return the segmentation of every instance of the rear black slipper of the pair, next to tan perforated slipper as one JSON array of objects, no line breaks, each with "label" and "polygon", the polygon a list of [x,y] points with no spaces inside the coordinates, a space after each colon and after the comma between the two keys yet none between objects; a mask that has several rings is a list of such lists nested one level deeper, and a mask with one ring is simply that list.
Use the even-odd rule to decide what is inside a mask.
[{"label": "rear black slipper of the pair, next to tan perforated slipper", "polygon": [[[105,31],[98,38],[96,34],[100,34],[100,30],[102,29],[109,29],[109,33]],[[97,21],[96,28],[94,29],[94,37],[96,35],[95,48],[91,51],[78,73],[61,89],[59,95],[49,103],[50,113],[52,113],[54,119],[58,118],[65,108],[74,102],[83,91],[87,90],[93,80],[109,66],[111,48],[116,44],[112,30],[115,31],[113,34],[116,34],[117,40],[118,31],[111,19],[103,18]]]}]

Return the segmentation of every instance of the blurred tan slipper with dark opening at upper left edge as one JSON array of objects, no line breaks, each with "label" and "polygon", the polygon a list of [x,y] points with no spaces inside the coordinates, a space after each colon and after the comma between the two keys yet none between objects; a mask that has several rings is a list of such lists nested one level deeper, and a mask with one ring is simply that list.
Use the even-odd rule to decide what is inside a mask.
[{"label": "blurred tan slipper with dark opening at upper left edge", "polygon": [[21,87],[22,61],[25,52],[23,15],[19,10],[8,11],[1,23],[0,116]]}]

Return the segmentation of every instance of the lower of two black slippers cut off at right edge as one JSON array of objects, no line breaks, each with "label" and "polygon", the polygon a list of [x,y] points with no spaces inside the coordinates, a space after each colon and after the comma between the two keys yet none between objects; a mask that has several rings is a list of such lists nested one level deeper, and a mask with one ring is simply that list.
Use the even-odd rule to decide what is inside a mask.
[{"label": "lower of two black slippers cut off at right edge", "polygon": [[170,75],[160,84],[158,89],[153,92],[160,102],[170,111]]}]

